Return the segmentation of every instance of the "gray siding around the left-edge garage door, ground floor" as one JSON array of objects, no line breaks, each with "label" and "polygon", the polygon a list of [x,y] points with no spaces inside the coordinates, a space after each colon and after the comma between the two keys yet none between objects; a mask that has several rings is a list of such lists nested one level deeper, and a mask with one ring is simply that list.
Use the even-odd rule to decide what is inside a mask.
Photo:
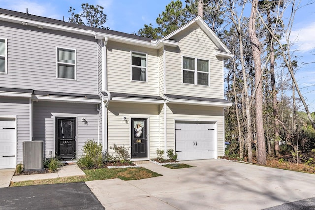
[{"label": "gray siding around the left-edge garage door, ground floor", "polygon": [[22,142],[30,141],[29,98],[0,97],[0,116],[17,118],[17,163],[23,162]]}]

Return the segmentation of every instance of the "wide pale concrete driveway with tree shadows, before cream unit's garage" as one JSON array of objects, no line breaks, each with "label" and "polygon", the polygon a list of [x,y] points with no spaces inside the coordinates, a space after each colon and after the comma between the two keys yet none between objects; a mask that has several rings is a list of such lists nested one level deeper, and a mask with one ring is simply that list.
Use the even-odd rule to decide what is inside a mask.
[{"label": "wide pale concrete driveway with tree shadows, before cream unit's garage", "polygon": [[164,176],[86,184],[106,210],[258,210],[315,196],[313,174],[225,160],[184,163],[195,167],[168,169],[147,163],[141,166]]}]

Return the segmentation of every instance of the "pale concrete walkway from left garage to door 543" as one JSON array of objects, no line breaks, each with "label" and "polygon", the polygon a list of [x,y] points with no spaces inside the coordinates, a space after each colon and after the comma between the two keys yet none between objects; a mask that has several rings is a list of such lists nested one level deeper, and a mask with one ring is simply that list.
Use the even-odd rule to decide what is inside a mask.
[{"label": "pale concrete walkway from left garage to door 543", "polygon": [[1,169],[0,170],[0,187],[8,187],[10,182],[28,181],[28,180],[43,180],[54,179],[59,177],[72,177],[72,176],[85,176],[85,173],[76,165],[65,165],[60,170],[54,173],[46,174],[30,174],[13,176],[14,169]]}]

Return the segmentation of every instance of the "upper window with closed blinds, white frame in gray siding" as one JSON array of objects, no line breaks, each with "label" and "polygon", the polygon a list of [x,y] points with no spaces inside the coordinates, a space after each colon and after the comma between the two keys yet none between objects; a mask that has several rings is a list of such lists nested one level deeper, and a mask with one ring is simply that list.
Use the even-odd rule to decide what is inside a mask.
[{"label": "upper window with closed blinds, white frame in gray siding", "polygon": [[76,50],[57,48],[57,78],[76,79]]}]

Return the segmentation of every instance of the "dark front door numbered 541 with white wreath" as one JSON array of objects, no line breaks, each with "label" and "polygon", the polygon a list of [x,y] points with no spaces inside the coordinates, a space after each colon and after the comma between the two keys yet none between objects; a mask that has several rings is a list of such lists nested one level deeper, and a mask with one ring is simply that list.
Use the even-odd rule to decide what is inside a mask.
[{"label": "dark front door numbered 541 with white wreath", "polygon": [[131,157],[143,158],[148,157],[147,151],[148,134],[147,119],[131,119]]}]

